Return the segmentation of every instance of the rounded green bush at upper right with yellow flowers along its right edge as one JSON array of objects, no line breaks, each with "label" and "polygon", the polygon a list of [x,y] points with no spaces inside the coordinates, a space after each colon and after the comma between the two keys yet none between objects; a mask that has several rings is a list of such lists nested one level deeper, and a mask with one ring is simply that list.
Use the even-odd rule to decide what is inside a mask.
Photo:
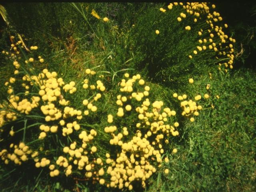
[{"label": "rounded green bush at upper right with yellow flowers along its right edge", "polygon": [[214,4],[182,2],[158,11],[149,8],[132,30],[135,49],[143,56],[137,68],[149,71],[160,84],[186,82],[188,76],[216,68],[232,69],[236,40],[228,35],[228,25],[215,8]]}]

